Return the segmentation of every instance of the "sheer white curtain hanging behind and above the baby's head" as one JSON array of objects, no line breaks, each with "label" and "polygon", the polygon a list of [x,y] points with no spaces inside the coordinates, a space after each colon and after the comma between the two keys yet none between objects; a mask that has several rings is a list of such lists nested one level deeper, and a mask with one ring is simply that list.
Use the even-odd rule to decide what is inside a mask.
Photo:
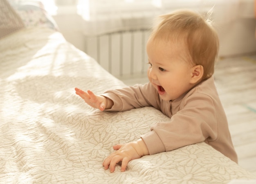
[{"label": "sheer white curtain hanging behind and above the baby's head", "polygon": [[[44,0],[49,2],[49,0]],[[74,9],[83,18],[86,35],[100,35],[120,30],[147,29],[152,19],[175,9],[193,9],[207,13],[217,25],[238,17],[243,0],[52,0],[56,7]],[[67,10],[68,10],[67,9]],[[65,12],[68,12],[65,10]]]}]

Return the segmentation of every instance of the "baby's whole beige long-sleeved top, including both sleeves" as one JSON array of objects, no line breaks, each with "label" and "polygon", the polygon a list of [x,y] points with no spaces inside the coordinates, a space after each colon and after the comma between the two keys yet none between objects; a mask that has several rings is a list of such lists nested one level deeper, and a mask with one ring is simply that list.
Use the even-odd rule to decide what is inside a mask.
[{"label": "baby's whole beige long-sleeved top, including both sleeves", "polygon": [[173,102],[159,98],[150,83],[109,90],[103,96],[114,102],[107,111],[153,106],[170,117],[168,122],[156,123],[148,133],[141,135],[150,155],[204,141],[238,162],[213,77]]}]

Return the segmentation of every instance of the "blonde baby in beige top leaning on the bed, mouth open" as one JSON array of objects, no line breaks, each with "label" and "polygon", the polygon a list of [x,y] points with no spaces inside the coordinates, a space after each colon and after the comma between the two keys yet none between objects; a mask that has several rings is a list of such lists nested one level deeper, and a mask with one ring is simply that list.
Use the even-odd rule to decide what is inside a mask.
[{"label": "blonde baby in beige top leaning on the bed, mouth open", "polygon": [[227,118],[213,80],[218,35],[208,20],[188,10],[159,17],[147,42],[147,84],[109,90],[101,95],[76,88],[76,94],[101,111],[126,111],[153,106],[170,117],[153,125],[135,142],[117,144],[104,161],[115,171],[122,162],[206,142],[238,162]]}]

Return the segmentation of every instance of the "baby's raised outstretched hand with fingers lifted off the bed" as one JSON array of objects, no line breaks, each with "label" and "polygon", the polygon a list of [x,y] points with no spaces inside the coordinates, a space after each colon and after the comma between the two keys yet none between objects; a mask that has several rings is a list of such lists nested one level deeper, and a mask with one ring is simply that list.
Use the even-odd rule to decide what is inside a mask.
[{"label": "baby's raised outstretched hand with fingers lifted off the bed", "polygon": [[105,109],[111,109],[114,102],[109,98],[103,97],[101,95],[95,95],[92,91],[88,90],[87,92],[75,88],[76,94],[79,95],[83,100],[90,106],[97,108],[101,111]]}]

